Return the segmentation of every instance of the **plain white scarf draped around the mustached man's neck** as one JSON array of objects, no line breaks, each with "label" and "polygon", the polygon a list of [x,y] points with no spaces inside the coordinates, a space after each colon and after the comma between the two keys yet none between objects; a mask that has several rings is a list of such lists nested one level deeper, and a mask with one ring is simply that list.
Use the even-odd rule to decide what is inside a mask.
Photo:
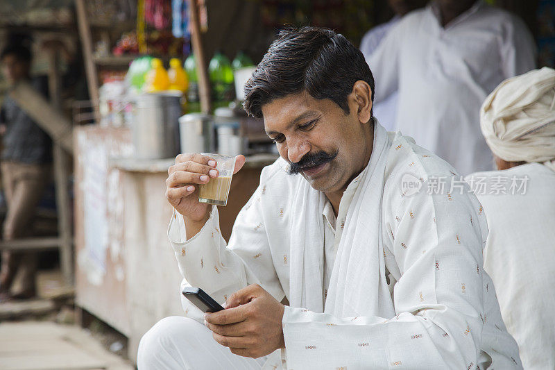
[{"label": "plain white scarf draped around the mustached man's neck", "polygon": [[[323,309],[321,258],[323,194],[303,182],[293,196],[291,228],[292,307],[326,312],[337,317],[395,315],[385,278],[382,246],[384,171],[391,140],[374,125],[374,147],[368,168],[359,180],[345,219]],[[364,206],[363,206],[364,205]]]}]

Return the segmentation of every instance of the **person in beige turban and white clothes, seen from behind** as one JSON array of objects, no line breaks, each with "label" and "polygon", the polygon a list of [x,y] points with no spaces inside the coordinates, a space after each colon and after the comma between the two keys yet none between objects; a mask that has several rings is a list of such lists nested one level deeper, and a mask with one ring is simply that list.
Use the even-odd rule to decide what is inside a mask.
[{"label": "person in beige turban and white clothes, seen from behind", "polygon": [[498,169],[466,178],[490,229],[484,269],[524,369],[555,369],[555,70],[502,82],[480,125]]}]

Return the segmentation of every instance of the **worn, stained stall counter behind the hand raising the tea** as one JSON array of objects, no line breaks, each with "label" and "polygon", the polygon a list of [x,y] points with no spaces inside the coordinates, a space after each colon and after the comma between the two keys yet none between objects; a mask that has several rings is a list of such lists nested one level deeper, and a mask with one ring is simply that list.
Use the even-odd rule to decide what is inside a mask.
[{"label": "worn, stained stall counter behind the hand raising the tea", "polygon": [[[173,208],[165,198],[174,159],[136,160],[126,129],[76,129],[76,303],[139,340],[158,320],[182,315],[181,276],[167,239]],[[229,239],[235,217],[255,191],[262,168],[277,155],[253,155],[233,176],[228,206],[220,208]]]}]

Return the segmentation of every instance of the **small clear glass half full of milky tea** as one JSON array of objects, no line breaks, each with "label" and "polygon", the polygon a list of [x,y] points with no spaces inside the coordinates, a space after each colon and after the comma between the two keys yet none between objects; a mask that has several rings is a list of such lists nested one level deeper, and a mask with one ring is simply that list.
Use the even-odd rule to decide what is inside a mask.
[{"label": "small clear glass half full of milky tea", "polygon": [[206,184],[200,184],[198,189],[198,201],[200,203],[227,205],[231,177],[233,176],[233,169],[235,168],[235,157],[212,153],[200,154],[216,161],[218,177],[210,178]]}]

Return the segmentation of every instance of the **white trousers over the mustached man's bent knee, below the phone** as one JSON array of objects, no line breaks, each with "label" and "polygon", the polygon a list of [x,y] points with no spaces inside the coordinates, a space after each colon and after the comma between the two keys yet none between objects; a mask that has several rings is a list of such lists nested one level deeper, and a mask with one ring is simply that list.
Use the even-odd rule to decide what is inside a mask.
[{"label": "white trousers over the mustached man's bent knee, below the phone", "polygon": [[139,370],[261,369],[266,357],[244,358],[231,353],[202,323],[172,316],[158,321],[139,343]]}]

